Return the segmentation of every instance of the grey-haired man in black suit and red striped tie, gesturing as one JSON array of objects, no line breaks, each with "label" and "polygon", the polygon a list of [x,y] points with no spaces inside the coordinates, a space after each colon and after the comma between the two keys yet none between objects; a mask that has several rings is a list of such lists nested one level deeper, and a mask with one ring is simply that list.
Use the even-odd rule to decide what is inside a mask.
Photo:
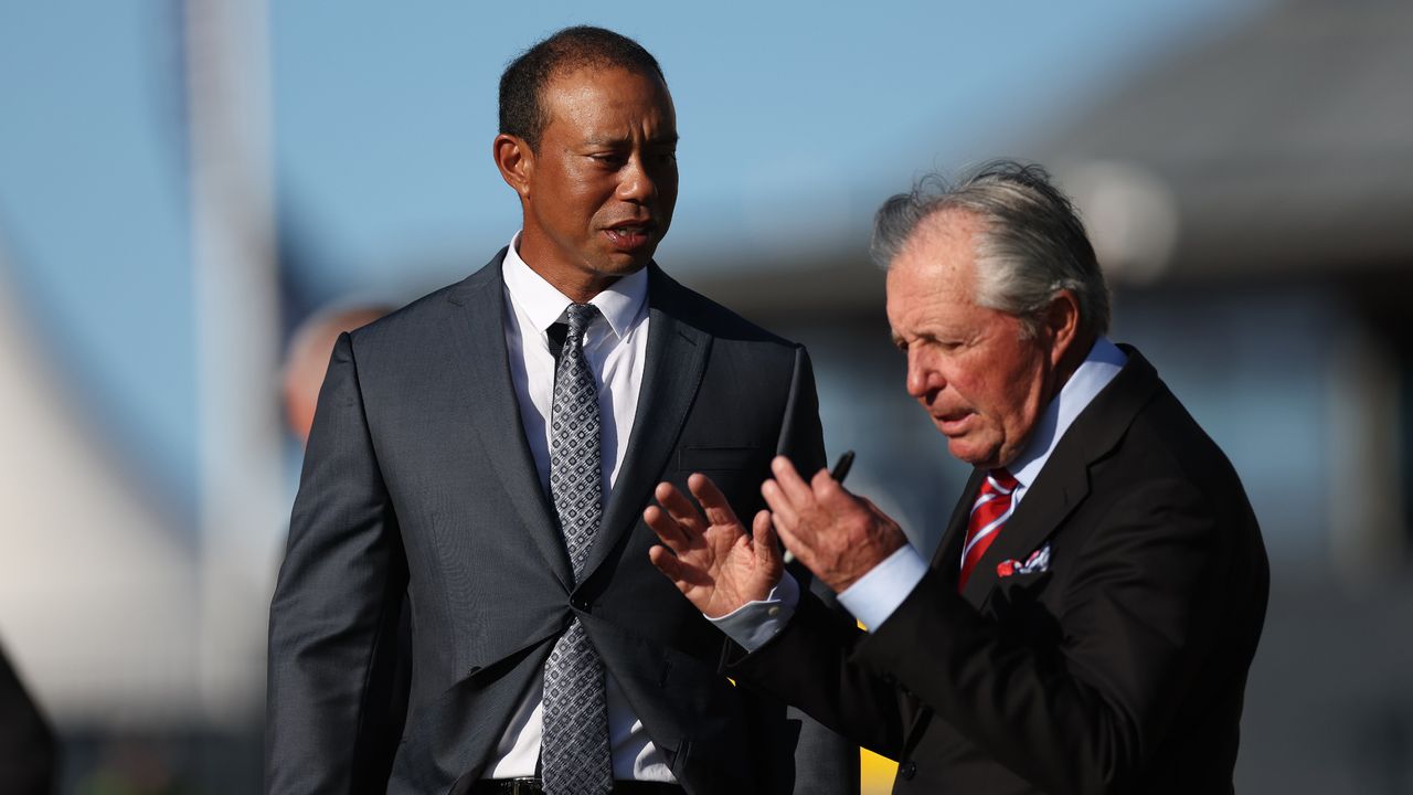
[{"label": "grey-haired man in black suit and red striped tie, gesturing", "polygon": [[[752,533],[705,477],[709,519],[658,487],[654,563],[749,652],[732,676],[899,760],[894,792],[1231,792],[1260,532],[1221,450],[1105,338],[1068,199],[991,164],[885,204],[875,255],[907,390],[976,467],[931,564],[780,458]],[[868,632],[790,593],[771,526]]]}]

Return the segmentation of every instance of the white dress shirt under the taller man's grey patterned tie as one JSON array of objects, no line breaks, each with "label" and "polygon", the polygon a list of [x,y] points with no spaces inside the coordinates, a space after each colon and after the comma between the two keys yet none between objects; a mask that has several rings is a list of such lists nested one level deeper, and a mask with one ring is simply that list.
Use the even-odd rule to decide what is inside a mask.
[{"label": "white dress shirt under the taller man's grey patterned tie", "polygon": [[[530,269],[519,253],[520,235],[510,242],[502,265],[506,296],[506,351],[510,379],[526,440],[550,489],[550,412],[554,403],[554,354],[548,328],[565,318],[572,301]],[[625,276],[589,301],[602,317],[584,335],[584,356],[599,393],[603,499],[608,501],[623,465],[623,454],[637,413],[647,354],[647,269]],[[675,781],[667,761],[633,714],[613,675],[605,672],[609,707],[609,747],[615,779]],[[536,678],[521,697],[496,745],[483,778],[536,775],[544,729],[544,678]]]}]

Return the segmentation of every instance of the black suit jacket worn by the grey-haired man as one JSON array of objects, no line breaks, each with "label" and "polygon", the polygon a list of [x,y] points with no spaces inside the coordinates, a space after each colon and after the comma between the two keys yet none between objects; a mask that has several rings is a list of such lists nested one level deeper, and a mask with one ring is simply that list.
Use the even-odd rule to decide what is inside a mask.
[{"label": "black suit jacket worn by the grey-haired man", "polygon": [[[1231,792],[1266,553],[1226,457],[1126,352],[965,591],[982,472],[873,635],[805,598],[729,672],[899,760],[894,792]],[[999,576],[1044,545],[1048,570]]]}]

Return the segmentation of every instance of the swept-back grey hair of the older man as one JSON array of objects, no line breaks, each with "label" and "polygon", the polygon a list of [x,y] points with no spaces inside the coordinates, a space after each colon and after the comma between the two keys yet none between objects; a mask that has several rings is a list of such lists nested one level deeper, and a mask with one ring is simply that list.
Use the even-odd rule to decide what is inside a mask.
[{"label": "swept-back grey hair of the older man", "polygon": [[993,160],[955,182],[938,174],[883,202],[873,221],[873,260],[887,269],[918,226],[959,209],[981,219],[976,304],[1017,317],[1027,335],[1061,290],[1080,304],[1080,331],[1109,330],[1109,289],[1070,198],[1034,164]]}]

